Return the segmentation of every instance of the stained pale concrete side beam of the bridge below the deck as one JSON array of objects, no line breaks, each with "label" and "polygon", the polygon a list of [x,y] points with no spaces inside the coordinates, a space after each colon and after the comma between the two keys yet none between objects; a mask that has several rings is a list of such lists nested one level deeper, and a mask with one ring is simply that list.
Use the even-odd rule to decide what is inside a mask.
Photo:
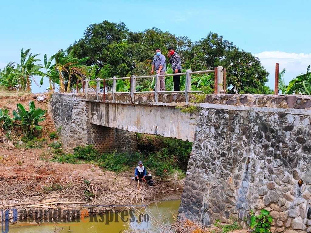
[{"label": "stained pale concrete side beam of the bridge below the deck", "polygon": [[193,141],[195,120],[174,106],[89,102],[92,124]]}]

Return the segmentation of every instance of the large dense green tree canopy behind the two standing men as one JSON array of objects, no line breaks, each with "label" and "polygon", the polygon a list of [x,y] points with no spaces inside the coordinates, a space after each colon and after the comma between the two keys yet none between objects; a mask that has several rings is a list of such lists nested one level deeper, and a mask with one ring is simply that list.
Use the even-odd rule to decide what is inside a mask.
[{"label": "large dense green tree canopy behind the two standing men", "polygon": [[96,75],[100,74],[100,78],[125,77],[132,74],[147,75],[156,48],[166,55],[169,46],[173,46],[180,55],[183,69],[226,68],[229,93],[272,92],[265,86],[269,73],[259,59],[212,32],[206,38],[192,42],[188,37],[176,36],[155,27],[132,32],[122,22],[103,21],[91,24],[84,37],[70,45],[68,51],[74,49],[74,56],[79,59],[90,57],[86,65],[96,65]]}]

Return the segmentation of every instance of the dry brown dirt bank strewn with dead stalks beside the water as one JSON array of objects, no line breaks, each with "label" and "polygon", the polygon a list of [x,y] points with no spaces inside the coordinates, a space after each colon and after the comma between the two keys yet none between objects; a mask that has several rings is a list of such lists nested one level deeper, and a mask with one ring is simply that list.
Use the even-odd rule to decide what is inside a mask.
[{"label": "dry brown dirt bank strewn with dead stalks beside the water", "polygon": [[[0,108],[16,110],[16,103],[28,106],[34,100],[36,107],[47,109],[46,103],[36,101],[39,94],[0,92]],[[0,208],[83,208],[83,205],[104,205],[107,210],[123,209],[123,205],[150,203],[154,200],[179,199],[182,190],[158,192],[183,186],[175,177],[155,178],[155,185],[138,184],[132,180],[134,167],[116,174],[103,171],[96,164],[50,162],[53,158],[49,134],[56,131],[47,114],[41,122],[43,130],[38,138],[45,138],[40,148],[19,145],[21,133],[12,136],[15,144],[0,144]],[[173,182],[174,180],[174,182]],[[158,192],[158,193],[156,193]],[[118,207],[115,207],[118,206]],[[121,206],[121,207],[120,207]]]}]

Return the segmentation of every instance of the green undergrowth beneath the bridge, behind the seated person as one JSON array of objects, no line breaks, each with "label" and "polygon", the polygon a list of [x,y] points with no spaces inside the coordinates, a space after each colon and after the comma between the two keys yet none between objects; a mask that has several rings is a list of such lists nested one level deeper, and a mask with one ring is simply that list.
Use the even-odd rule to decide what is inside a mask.
[{"label": "green undergrowth beneath the bridge, behind the seated person", "polygon": [[65,154],[60,149],[61,144],[52,143],[49,146],[54,148],[52,161],[56,162],[96,162],[102,169],[121,172],[129,167],[136,167],[137,161],[142,160],[158,176],[175,170],[186,171],[192,149],[191,142],[141,134],[137,134],[137,141],[140,153],[99,153],[92,145],[87,145],[74,148],[73,154]]}]

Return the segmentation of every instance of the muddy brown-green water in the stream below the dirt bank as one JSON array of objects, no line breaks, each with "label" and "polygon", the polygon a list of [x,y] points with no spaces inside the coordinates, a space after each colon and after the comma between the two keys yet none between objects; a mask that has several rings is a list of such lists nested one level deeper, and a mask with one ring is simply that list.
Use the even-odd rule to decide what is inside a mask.
[{"label": "muddy brown-green water in the stream below the dirt bank", "polygon": [[85,217],[80,219],[80,222],[60,222],[56,226],[57,231],[54,231],[54,223],[42,223],[39,225],[17,222],[14,225],[9,225],[8,233],[118,233],[130,232],[130,230],[135,232],[135,229],[144,232],[158,232],[159,222],[165,222],[166,224],[174,222],[174,216],[178,213],[179,204],[180,200],[162,201],[156,204],[152,203],[146,208],[137,207],[132,212],[106,213],[101,216],[91,217],[91,219],[90,217]]}]

